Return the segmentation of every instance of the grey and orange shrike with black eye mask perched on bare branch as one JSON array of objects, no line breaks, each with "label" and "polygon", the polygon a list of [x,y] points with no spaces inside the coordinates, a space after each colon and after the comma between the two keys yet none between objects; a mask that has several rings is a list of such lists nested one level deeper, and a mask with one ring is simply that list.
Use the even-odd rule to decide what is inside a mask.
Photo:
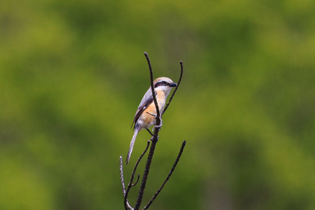
[{"label": "grey and orange shrike with black eye mask perched on bare branch", "polygon": [[[166,98],[169,95],[169,92],[171,91],[173,87],[176,87],[177,84],[174,83],[170,78],[159,77],[153,81],[153,86],[154,86],[155,97],[157,99],[157,105],[161,113],[162,109],[164,108]],[[132,148],[134,147],[135,139],[137,137],[138,132],[142,129],[146,129],[151,134],[151,136],[153,136],[153,134],[148,128],[152,126],[153,124],[155,124],[156,114],[157,114],[157,111],[155,108],[155,104],[154,104],[154,100],[152,96],[152,90],[150,87],[148,91],[146,91],[146,94],[144,94],[139,104],[139,107],[136,111],[134,122],[131,125],[131,128],[132,128],[133,124],[135,123],[134,135],[130,142],[130,147],[129,147],[129,151],[126,158],[126,165],[128,165],[128,162],[130,160]],[[162,124],[162,120],[161,120],[161,124]],[[155,125],[155,127],[161,127],[162,126],[161,124]],[[152,132],[153,132],[153,129],[152,129]]]}]

